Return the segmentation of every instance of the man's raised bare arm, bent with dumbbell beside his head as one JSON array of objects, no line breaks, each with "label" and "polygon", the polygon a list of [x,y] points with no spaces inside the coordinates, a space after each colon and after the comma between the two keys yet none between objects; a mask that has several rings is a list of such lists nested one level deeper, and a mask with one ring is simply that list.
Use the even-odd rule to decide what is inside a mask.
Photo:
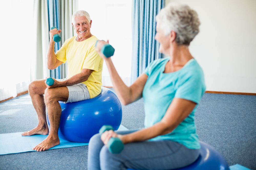
[{"label": "man's raised bare arm, bent with dumbbell beside his head", "polygon": [[53,41],[53,36],[55,34],[59,34],[61,32],[61,30],[57,30],[56,28],[55,29],[52,29],[49,34],[50,34],[50,43],[49,43],[49,48],[48,48],[48,51],[47,51],[47,68],[49,70],[54,70],[56,69],[57,67],[59,67],[63,62],[59,61],[54,53],[54,44],[55,42]]}]

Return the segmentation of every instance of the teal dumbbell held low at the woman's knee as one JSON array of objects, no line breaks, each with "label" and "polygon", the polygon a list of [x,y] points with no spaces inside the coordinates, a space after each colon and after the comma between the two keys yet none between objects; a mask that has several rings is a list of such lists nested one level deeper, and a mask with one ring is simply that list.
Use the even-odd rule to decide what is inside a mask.
[{"label": "teal dumbbell held low at the woman's knee", "polygon": [[[106,130],[114,130],[111,125],[104,125],[100,128],[99,133],[102,135]],[[108,149],[111,153],[120,153],[124,149],[124,144],[119,138],[110,138],[107,143]]]}]

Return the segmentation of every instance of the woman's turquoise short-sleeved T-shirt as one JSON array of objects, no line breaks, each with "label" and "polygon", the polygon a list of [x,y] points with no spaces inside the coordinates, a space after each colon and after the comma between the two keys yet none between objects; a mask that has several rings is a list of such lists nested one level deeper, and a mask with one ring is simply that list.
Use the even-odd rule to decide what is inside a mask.
[{"label": "woman's turquoise short-sleeved T-shirt", "polygon": [[[181,98],[199,103],[205,92],[204,74],[195,59],[189,60],[185,66],[172,73],[163,73],[170,57],[158,59],[150,63],[144,73],[148,76],[143,89],[145,108],[145,127],[160,122],[174,98]],[[171,140],[183,144],[189,149],[200,149],[196,125],[195,109],[180,123],[173,132],[157,136],[151,140]]]}]

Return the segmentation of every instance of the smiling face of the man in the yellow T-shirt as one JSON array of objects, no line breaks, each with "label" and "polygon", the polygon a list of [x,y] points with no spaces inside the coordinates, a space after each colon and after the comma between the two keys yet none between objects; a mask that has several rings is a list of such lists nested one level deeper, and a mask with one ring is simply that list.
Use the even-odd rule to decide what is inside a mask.
[{"label": "smiling face of the man in the yellow T-shirt", "polygon": [[74,18],[74,23],[72,23],[74,29],[76,30],[78,38],[85,38],[91,35],[90,28],[91,28],[92,20],[88,21],[85,16],[77,16]]}]

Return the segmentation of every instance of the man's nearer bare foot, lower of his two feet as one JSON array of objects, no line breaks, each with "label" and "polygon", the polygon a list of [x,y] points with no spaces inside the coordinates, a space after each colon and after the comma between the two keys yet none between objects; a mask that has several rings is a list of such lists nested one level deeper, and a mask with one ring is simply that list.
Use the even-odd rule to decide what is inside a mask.
[{"label": "man's nearer bare foot, lower of his two feet", "polygon": [[47,136],[45,140],[43,140],[41,143],[39,143],[35,148],[32,148],[32,150],[35,151],[45,151],[48,150],[56,145],[60,144],[60,139],[57,137],[57,139],[51,138]]}]

